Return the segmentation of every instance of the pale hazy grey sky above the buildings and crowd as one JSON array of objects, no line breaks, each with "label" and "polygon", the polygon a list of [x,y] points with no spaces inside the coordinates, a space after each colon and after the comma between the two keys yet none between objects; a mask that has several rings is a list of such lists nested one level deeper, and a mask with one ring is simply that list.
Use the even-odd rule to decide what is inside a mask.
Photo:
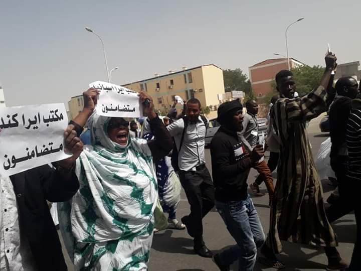
[{"label": "pale hazy grey sky above the buildings and crowd", "polygon": [[116,84],[214,63],[248,67],[286,54],[322,65],[361,60],[361,1],[0,1],[0,81],[8,106],[65,102],[106,80]]}]

